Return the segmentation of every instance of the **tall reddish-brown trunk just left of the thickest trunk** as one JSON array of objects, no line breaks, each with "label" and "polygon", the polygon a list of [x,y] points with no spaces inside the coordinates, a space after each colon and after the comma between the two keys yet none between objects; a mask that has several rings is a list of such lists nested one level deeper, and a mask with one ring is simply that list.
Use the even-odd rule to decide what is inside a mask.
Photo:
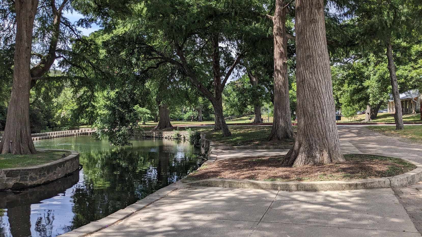
[{"label": "tall reddish-brown trunk just left of the thickest trunk", "polygon": [[273,17],[274,35],[274,118],[267,140],[294,138],[290,114],[289,78],[287,76],[286,0],[276,0]]}]

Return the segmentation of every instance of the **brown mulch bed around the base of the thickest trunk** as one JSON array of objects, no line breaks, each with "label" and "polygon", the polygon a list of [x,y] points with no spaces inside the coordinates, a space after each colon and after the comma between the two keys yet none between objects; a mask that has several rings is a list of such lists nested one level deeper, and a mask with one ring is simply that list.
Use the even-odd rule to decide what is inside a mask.
[{"label": "brown mulch bed around the base of the thickest trunk", "polygon": [[208,163],[189,174],[189,180],[235,178],[264,181],[331,181],[381,178],[416,168],[399,158],[346,154],[346,162],[328,165],[289,167],[281,165],[284,156],[247,157]]}]

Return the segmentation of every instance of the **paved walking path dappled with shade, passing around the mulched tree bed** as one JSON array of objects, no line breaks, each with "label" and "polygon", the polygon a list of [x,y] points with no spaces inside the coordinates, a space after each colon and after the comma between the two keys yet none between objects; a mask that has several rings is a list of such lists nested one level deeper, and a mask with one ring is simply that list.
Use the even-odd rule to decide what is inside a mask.
[{"label": "paved walking path dappled with shade, passing around the mulched tree bed", "polygon": [[[339,127],[339,132],[344,153],[405,154],[422,162],[421,144],[403,143],[362,127]],[[225,151],[217,160],[234,154],[230,152],[239,150]],[[178,184],[160,200],[90,236],[416,237],[421,236],[417,228],[422,222],[419,189],[421,183],[394,190],[325,192]]]}]

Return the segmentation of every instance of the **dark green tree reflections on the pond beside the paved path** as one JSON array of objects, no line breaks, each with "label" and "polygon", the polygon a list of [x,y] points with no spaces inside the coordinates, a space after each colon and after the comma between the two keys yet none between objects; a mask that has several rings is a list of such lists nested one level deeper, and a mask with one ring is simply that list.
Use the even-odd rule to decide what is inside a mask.
[{"label": "dark green tree reflections on the pond beside the paved path", "polygon": [[198,166],[189,143],[175,146],[174,141],[161,140],[158,144],[84,153],[84,183],[73,193],[73,228],[125,208]]}]

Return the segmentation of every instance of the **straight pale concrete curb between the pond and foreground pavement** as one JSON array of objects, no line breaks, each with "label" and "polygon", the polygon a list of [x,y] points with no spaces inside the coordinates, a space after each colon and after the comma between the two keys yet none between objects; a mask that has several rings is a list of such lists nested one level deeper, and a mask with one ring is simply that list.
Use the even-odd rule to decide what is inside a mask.
[{"label": "straight pale concrete curb between the pond and foreground pavement", "polygon": [[98,232],[102,229],[107,228],[108,226],[111,226],[115,224],[118,221],[122,221],[123,219],[133,215],[134,213],[138,212],[139,210],[142,210],[143,208],[146,208],[151,203],[162,199],[166,195],[168,195],[170,192],[173,192],[174,190],[178,189],[177,186],[180,184],[180,180],[177,182],[174,182],[173,184],[170,184],[169,186],[165,186],[162,189],[157,190],[157,192],[154,192],[152,194],[149,194],[148,196],[144,197],[143,199],[139,200],[138,202],[133,203],[132,205],[127,206],[124,209],[120,209],[116,211],[113,214],[110,214],[98,221],[92,221],[89,224],[86,224],[84,226],[81,226],[77,229],[74,229],[70,232],[67,232],[65,234],[61,234],[60,237],[80,237],[80,236],[86,236],[88,234],[92,234],[95,232]]}]

